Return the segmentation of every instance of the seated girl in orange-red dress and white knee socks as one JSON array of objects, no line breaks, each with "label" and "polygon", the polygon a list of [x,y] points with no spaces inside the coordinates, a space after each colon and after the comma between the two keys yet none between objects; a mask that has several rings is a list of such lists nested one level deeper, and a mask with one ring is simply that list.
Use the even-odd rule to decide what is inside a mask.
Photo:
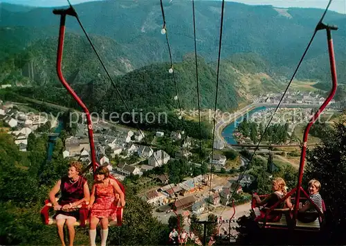
[{"label": "seated girl in orange-red dress and white knee socks", "polygon": [[117,204],[114,203],[118,202],[116,195],[120,195],[120,204],[122,207],[125,206],[125,195],[121,191],[118,183],[108,177],[108,168],[104,166],[98,167],[95,175],[95,184],[93,184],[89,203],[89,208],[91,208],[89,236],[91,246],[95,246],[96,227],[98,226],[98,222],[101,221],[101,245],[105,246],[108,236],[108,218],[116,220],[116,209],[114,209],[114,207],[117,207]]}]

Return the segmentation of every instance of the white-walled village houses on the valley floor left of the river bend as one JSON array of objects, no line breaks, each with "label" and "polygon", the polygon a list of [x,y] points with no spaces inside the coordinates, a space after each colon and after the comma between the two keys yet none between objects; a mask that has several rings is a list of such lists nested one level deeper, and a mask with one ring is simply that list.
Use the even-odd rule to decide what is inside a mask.
[{"label": "white-walled village houses on the valley floor left of the river bend", "polygon": [[[7,127],[2,127],[8,134],[11,134],[19,150],[26,151],[28,146],[29,134],[42,134],[38,132],[42,125],[50,124],[50,138],[57,137],[57,133],[52,133],[59,125],[56,118],[45,117],[42,114],[33,114],[20,111],[16,103],[0,100],[0,121]],[[171,157],[167,152],[150,146],[144,146],[141,143],[144,132],[134,130],[115,130],[115,128],[102,123],[93,125],[95,136],[95,149],[99,163],[109,168],[111,175],[120,181],[126,177],[141,178],[145,172],[167,164],[169,161],[188,157],[191,155],[190,148],[195,147],[194,139],[186,137],[183,142],[183,150],[176,152]],[[155,132],[153,142],[165,137],[164,132]],[[171,132],[170,139],[179,141],[182,139],[182,132]],[[49,143],[52,144],[52,143]],[[220,143],[215,146],[219,149]],[[64,159],[82,161],[89,164],[91,161],[89,139],[87,137],[86,125],[77,124],[77,131],[73,136],[67,136],[64,141],[62,156]],[[122,161],[116,161],[122,160]],[[215,154],[210,158],[210,163],[216,164],[219,168],[225,165],[226,157]],[[198,165],[198,164],[197,164]],[[211,179],[210,179],[211,177]],[[150,204],[154,215],[162,222],[167,222],[167,218],[172,215],[171,209],[176,209],[178,213],[183,214],[187,220],[188,216],[205,216],[206,211],[218,211],[221,207],[227,206],[227,211],[232,210],[230,204],[230,195],[235,191],[243,197],[243,200],[249,200],[249,194],[243,193],[242,188],[253,182],[251,175],[244,175],[237,184],[239,177],[237,174],[233,177],[219,177],[217,174],[210,176],[197,175],[196,177],[185,177],[179,184],[170,182],[168,175],[149,175],[143,177],[143,184],[154,182],[155,186],[148,186],[141,192],[140,198]],[[210,192],[210,180],[211,192]],[[207,209],[208,207],[208,209]]]}]

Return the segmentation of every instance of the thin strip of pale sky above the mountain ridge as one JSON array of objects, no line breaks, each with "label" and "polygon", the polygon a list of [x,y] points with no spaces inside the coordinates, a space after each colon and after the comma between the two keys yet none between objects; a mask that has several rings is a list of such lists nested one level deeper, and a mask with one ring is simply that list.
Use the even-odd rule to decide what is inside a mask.
[{"label": "thin strip of pale sky above the mountain ridge", "polygon": [[[87,1],[102,1],[102,0],[70,0],[72,4],[85,3]],[[135,0],[107,0],[107,1],[135,1]],[[158,1],[158,0],[136,0],[136,1]],[[187,1],[187,0],[172,0],[172,1]],[[328,0],[233,0],[239,3],[250,5],[273,5],[275,7],[298,7],[298,8],[322,8],[327,6]],[[28,6],[39,7],[56,7],[66,6],[67,0],[0,0],[0,3],[16,3]],[[334,0],[329,7],[329,10],[334,10],[342,14],[346,14],[346,0]]]}]

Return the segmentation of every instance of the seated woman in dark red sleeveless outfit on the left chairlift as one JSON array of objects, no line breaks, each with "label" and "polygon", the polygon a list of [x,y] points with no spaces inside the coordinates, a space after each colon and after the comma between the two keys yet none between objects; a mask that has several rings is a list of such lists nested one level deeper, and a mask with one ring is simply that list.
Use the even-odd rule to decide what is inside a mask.
[{"label": "seated woman in dark red sleeveless outfit on the left chairlift", "polygon": [[[89,202],[90,192],[89,186],[84,177],[80,176],[82,164],[78,161],[72,161],[69,165],[69,171],[66,177],[62,177],[51,192],[49,199],[51,200],[54,210],[57,211],[55,219],[57,220],[57,232],[59,234],[62,245],[64,246],[64,224],[66,222],[69,229],[69,242],[73,245],[75,238],[74,223],[79,217],[78,209],[74,209],[82,202]],[[61,190],[59,203],[56,201],[55,195]]]}]

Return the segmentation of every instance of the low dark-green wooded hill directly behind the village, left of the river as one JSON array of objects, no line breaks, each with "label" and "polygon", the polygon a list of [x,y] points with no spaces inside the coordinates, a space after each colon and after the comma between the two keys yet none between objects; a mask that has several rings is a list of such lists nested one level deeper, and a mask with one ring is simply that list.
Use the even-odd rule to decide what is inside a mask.
[{"label": "low dark-green wooded hill directly behind the village, left of the river", "polygon": [[[72,62],[71,62],[72,64]],[[67,66],[66,66],[67,68]],[[80,71],[75,71],[69,76],[72,87],[78,95],[88,105],[89,110],[108,112],[125,110],[122,100],[118,93],[111,86],[109,78],[104,73],[93,74],[95,68],[90,68],[90,78],[86,80],[84,76],[85,67]],[[195,73],[194,55],[186,55],[183,62],[174,64],[174,75],[169,73],[170,64],[152,64],[140,69],[136,69],[122,76],[114,76],[113,81],[118,87],[121,96],[125,99],[130,109],[163,109],[172,111],[178,109],[176,87],[178,88],[179,99],[184,109],[197,109],[197,82]],[[202,108],[215,107],[215,93],[217,73],[215,69],[207,64],[203,58],[198,59],[200,98]],[[54,71],[54,70],[53,70]],[[53,73],[52,71],[52,73]],[[72,71],[72,70],[70,70]],[[234,73],[226,74],[219,79],[218,104],[219,109],[233,109],[237,107],[239,95],[233,87],[237,75]],[[53,75],[52,75],[53,76]],[[176,78],[176,87],[174,83]],[[34,85],[33,87],[18,88],[16,91],[21,96],[39,98],[51,103],[75,107],[71,96],[66,95],[66,90],[62,85]],[[61,89],[60,89],[61,88]]]}]

